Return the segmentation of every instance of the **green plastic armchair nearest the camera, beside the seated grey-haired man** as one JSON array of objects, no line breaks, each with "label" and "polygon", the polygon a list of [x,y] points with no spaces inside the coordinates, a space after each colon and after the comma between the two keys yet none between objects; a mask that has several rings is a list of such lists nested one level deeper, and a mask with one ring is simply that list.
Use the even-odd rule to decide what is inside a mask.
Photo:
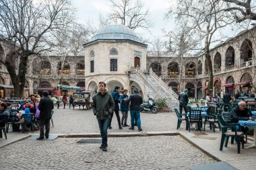
[{"label": "green plastic armchair nearest the camera, beside the seated grey-haired man", "polygon": [[[222,117],[222,115],[217,115],[217,119],[220,122],[220,127],[222,129],[222,139],[220,140],[220,151],[222,151],[224,142],[225,142],[225,147],[228,146],[228,139],[229,137],[234,137],[236,138],[237,142],[237,152],[240,153],[240,148],[241,148],[241,138],[244,137],[243,132],[237,132],[237,128],[241,129],[240,124],[227,124]],[[232,129],[234,132],[229,131]],[[244,148],[244,144],[242,142],[242,148]]]}]

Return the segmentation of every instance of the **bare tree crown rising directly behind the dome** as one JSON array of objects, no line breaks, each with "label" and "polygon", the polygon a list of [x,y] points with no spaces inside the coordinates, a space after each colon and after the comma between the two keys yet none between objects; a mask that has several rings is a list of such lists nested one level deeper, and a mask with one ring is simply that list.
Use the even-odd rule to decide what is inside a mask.
[{"label": "bare tree crown rising directly behind the dome", "polygon": [[133,30],[143,28],[149,31],[152,22],[149,19],[148,9],[145,9],[140,0],[109,0],[111,11],[108,19],[118,19],[119,22]]}]

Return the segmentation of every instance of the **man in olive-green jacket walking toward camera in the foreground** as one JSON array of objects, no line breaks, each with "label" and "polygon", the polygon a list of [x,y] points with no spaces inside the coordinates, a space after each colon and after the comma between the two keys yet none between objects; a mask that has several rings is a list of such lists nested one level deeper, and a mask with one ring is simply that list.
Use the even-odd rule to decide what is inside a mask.
[{"label": "man in olive-green jacket walking toward camera in the foreground", "polygon": [[92,110],[94,115],[98,120],[98,126],[100,127],[100,135],[102,138],[102,144],[100,148],[102,151],[107,151],[106,147],[108,146],[108,126],[110,124],[110,114],[113,113],[115,109],[115,102],[112,97],[106,91],[106,83],[100,81],[98,83],[99,92],[92,97]]}]

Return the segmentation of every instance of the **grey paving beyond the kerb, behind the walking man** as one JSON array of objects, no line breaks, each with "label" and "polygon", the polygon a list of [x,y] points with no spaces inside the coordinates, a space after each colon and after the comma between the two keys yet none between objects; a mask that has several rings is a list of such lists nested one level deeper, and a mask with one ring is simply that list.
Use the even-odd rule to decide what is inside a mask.
[{"label": "grey paving beyond the kerb, behind the walking man", "polygon": [[[121,112],[119,113],[122,116]],[[131,125],[130,116],[128,116],[127,124]],[[91,133],[99,132],[98,122],[96,116],[94,116],[92,110],[75,110],[66,108],[55,108],[55,114],[53,115],[53,124],[51,126],[51,133],[53,134],[68,134],[68,133]],[[119,130],[117,123],[117,116],[113,116],[112,121],[113,129],[108,132],[133,132],[135,130],[129,130],[129,127],[125,127]],[[158,113],[152,114],[141,113],[141,128],[143,131],[159,132],[159,131],[173,131],[177,128],[177,116],[174,113]],[[184,129],[183,125],[181,128]],[[38,133],[38,132],[36,132]]]}]

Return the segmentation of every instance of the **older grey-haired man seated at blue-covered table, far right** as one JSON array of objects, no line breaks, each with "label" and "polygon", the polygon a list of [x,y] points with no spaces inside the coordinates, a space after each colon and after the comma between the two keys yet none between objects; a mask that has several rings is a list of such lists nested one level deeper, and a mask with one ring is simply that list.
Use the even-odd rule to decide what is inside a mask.
[{"label": "older grey-haired man seated at blue-covered table, far right", "polygon": [[[246,107],[245,101],[240,101],[237,107],[234,107],[230,112],[230,122],[231,123],[238,123],[239,120],[255,120],[251,114],[251,111]],[[247,127],[243,127],[242,132],[244,134],[248,134],[249,129]],[[243,141],[244,142],[244,141]]]}]

